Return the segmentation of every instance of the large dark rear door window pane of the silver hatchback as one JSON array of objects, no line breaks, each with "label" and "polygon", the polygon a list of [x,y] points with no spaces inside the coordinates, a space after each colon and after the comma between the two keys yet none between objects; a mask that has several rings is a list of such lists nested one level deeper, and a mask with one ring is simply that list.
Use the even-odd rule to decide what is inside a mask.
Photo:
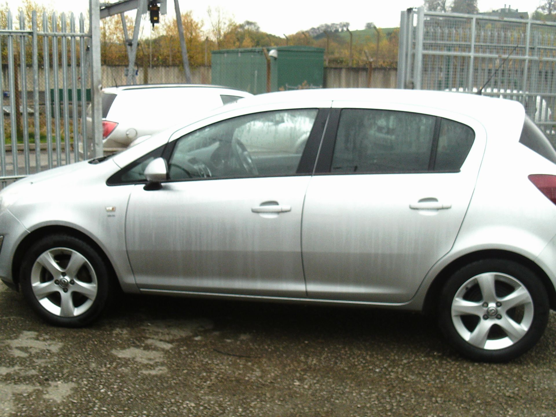
[{"label": "large dark rear door window pane of the silver hatchback", "polygon": [[390,110],[342,110],[332,172],[427,171],[436,117]]}]

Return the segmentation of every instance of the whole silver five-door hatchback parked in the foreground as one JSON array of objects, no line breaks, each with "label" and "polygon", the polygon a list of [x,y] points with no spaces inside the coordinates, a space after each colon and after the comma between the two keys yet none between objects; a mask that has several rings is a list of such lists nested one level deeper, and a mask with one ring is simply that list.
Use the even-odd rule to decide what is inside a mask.
[{"label": "whole silver five-door hatchback parked in the foreground", "polygon": [[0,198],[0,277],[55,325],[117,287],[388,307],[507,361],[556,307],[556,152],[514,101],[270,93]]}]

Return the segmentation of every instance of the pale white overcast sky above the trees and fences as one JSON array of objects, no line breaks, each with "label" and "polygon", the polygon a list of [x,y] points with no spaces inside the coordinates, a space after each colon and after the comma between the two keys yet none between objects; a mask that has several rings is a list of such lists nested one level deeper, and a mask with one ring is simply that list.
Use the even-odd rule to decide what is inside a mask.
[{"label": "pale white overcast sky above the trees and fences", "polygon": [[[59,12],[86,12],[88,0],[35,0],[53,7]],[[101,0],[102,2],[103,0]],[[105,0],[107,1],[107,0]],[[504,7],[506,0],[479,0],[479,10],[488,12]],[[533,12],[542,0],[513,0],[508,3],[512,8],[522,12]],[[116,0],[107,1],[115,3]],[[173,0],[167,0],[168,12],[173,13]],[[8,4],[17,9],[21,0],[8,0]],[[400,25],[400,11],[408,7],[419,7],[423,0],[340,0],[336,2],[309,0],[281,0],[275,2],[255,2],[245,0],[180,0],[181,12],[191,10],[193,16],[209,23],[207,7],[220,7],[225,14],[237,22],[246,20],[259,23],[262,31],[283,36],[302,29],[319,26],[322,23],[350,22],[350,29],[363,29],[366,22],[374,22],[378,27],[396,27]]]}]

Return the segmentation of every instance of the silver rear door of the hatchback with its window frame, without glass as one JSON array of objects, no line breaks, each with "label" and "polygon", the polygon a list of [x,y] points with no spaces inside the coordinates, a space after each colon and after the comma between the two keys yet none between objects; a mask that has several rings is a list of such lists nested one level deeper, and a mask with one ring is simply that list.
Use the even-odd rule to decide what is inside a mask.
[{"label": "silver rear door of the hatchback with its window frame, without glass", "polygon": [[[372,102],[335,101],[333,107],[424,112],[421,106]],[[426,109],[426,114],[475,131],[460,172],[324,174],[311,179],[302,229],[309,297],[407,302],[435,262],[450,251],[475,188],[486,132],[458,113]],[[444,209],[411,208],[427,202]]]}]

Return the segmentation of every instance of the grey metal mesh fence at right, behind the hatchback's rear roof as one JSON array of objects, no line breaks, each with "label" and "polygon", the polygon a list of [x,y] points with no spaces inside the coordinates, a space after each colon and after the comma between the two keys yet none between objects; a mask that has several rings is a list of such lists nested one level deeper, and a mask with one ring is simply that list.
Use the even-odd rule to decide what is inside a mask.
[{"label": "grey metal mesh fence at right, behind the hatchback's rear roof", "polygon": [[556,23],[408,9],[398,88],[517,100],[555,144]]}]

